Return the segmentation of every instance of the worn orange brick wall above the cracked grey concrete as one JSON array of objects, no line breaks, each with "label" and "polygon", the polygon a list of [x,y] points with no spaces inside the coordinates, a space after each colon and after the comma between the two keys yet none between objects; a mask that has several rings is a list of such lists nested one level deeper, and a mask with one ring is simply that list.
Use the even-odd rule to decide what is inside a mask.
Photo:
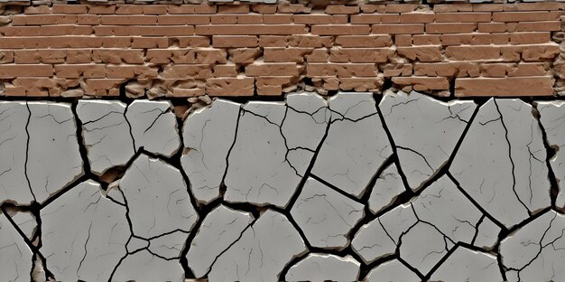
[{"label": "worn orange brick wall above the cracked grey concrete", "polygon": [[4,5],[0,93],[553,96],[565,3]]}]

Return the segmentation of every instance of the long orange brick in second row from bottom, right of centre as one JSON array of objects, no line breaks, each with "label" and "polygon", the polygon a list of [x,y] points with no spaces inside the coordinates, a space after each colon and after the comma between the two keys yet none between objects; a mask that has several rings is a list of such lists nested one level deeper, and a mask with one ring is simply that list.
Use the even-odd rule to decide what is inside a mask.
[{"label": "long orange brick in second row from bottom, right of centre", "polygon": [[316,77],[375,77],[377,73],[375,63],[308,63],[306,75]]}]

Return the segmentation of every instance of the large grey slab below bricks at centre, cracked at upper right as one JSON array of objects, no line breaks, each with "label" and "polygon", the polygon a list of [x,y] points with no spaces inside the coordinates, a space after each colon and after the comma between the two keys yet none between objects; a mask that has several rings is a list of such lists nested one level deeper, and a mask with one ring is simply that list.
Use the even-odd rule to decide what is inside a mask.
[{"label": "large grey slab below bricks at centre, cracked at upper right", "polygon": [[228,159],[227,202],[286,207],[327,127],[313,118],[325,102],[311,95],[290,96],[305,101],[303,112],[279,102],[245,105]]}]

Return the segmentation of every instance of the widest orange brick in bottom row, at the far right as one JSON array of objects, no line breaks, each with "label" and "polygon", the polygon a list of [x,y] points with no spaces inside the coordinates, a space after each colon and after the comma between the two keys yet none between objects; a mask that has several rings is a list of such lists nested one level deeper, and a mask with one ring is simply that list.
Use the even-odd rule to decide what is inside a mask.
[{"label": "widest orange brick in bottom row, at the far right", "polygon": [[551,76],[455,80],[456,97],[551,96]]}]

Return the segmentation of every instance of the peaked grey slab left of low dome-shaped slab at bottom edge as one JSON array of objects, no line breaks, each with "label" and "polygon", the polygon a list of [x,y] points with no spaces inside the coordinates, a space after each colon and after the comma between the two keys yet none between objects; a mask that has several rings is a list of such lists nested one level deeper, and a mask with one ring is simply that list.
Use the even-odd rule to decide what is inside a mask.
[{"label": "peaked grey slab left of low dome-shaped slab at bottom edge", "polygon": [[267,210],[218,258],[208,279],[279,281],[282,269],[307,250],[292,223],[281,213]]}]

